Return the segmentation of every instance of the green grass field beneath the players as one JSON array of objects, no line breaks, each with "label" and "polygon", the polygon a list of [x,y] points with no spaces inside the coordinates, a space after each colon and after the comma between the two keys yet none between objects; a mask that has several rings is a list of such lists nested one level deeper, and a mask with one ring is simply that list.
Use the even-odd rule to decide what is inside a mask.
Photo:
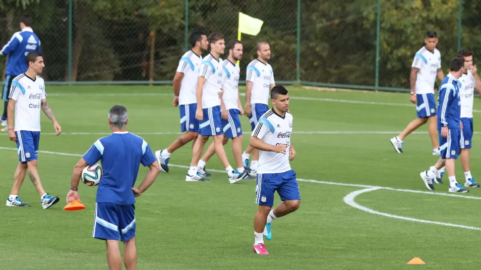
[{"label": "green grass field beneath the players", "polygon": [[[229,184],[225,173],[212,171],[210,182],[185,182],[191,157],[186,145],[171,158],[179,166],[161,173],[137,199],[139,270],[478,269],[481,188],[458,196],[448,194],[445,183],[427,192],[419,173],[437,160],[427,126],[405,140],[402,155],[389,142],[415,117],[408,95],[288,89],[298,152],[291,165],[300,178],[302,203],[297,212],[274,221],[273,239],[265,241],[270,255],[252,252],[255,180]],[[39,154],[39,173],[46,191],[61,201],[43,210],[25,179],[20,198],[32,207],[0,211],[0,269],[108,269],[105,243],[91,238],[97,188],[80,184],[87,208],[62,210],[73,166],[110,133],[107,113],[113,105],[128,109],[127,130],[153,150],[178,136],[179,110],[171,105],[171,87],[48,86],[47,91],[63,134],[52,135],[53,125],[42,116],[40,150],[47,152]],[[474,119],[476,130],[481,113]],[[245,116],[241,121],[245,148],[250,125]],[[474,176],[481,175],[480,138],[476,134],[473,140]],[[18,162],[15,147],[0,135],[4,199]],[[226,152],[234,164],[230,149],[231,143]],[[456,166],[463,183],[461,163]],[[207,170],[213,169],[223,170],[217,157],[207,163]],[[145,173],[141,168],[137,185]],[[369,186],[383,188],[365,190]],[[360,190],[358,196],[352,193]],[[279,201],[276,195],[275,204]],[[414,257],[426,265],[407,265]]]}]

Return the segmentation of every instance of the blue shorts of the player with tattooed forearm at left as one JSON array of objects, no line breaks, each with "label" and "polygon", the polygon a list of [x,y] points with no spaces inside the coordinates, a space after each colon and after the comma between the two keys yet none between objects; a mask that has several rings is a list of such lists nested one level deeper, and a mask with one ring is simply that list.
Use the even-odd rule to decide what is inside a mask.
[{"label": "blue shorts of the player with tattooed forearm at left", "polygon": [[17,135],[17,152],[21,163],[36,161],[38,159],[38,145],[40,131],[15,131]]}]

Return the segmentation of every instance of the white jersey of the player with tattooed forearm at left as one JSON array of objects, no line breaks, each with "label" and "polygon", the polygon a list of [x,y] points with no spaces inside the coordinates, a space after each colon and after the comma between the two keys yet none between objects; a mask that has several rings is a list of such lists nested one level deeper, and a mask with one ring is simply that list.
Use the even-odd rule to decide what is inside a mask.
[{"label": "white jersey of the player with tattooed forearm at left", "polygon": [[40,131],[40,103],[47,97],[45,81],[22,73],[15,77],[10,88],[9,99],[15,103],[15,131]]}]

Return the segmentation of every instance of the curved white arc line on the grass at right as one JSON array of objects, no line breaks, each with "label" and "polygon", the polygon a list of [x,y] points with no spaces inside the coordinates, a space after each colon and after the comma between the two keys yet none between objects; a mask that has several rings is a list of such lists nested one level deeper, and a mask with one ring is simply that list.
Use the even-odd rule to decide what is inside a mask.
[{"label": "curved white arc line on the grass at right", "polygon": [[[408,220],[408,221],[430,223],[430,224],[443,225],[443,226],[456,227],[456,228],[463,228],[463,229],[470,229],[470,230],[481,230],[481,228],[479,228],[479,227],[472,227],[472,226],[458,225],[458,224],[453,224],[453,223],[431,221],[431,220],[418,219],[418,218],[407,217],[407,216],[391,215],[391,214],[388,214],[388,213],[378,212],[378,211],[372,210],[370,208],[361,206],[360,204],[358,204],[354,201],[354,199],[358,195],[361,195],[362,193],[371,192],[371,191],[380,190],[380,189],[383,189],[383,188],[382,187],[370,187],[370,188],[365,188],[365,189],[353,191],[353,192],[349,193],[348,195],[346,195],[346,197],[344,197],[344,202],[346,204],[348,204],[349,206],[352,206],[352,207],[357,208],[361,211],[364,211],[364,212],[367,212],[367,213],[370,213],[370,214],[374,214],[374,215],[387,216],[387,217],[398,218],[398,219],[403,219],[403,220]],[[466,197],[468,197],[468,196],[466,196]]]}]

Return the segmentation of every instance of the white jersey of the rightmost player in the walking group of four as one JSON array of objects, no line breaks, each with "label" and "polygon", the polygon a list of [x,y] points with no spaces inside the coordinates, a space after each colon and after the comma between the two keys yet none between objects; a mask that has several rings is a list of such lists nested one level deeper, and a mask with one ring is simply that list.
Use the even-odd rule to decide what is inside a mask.
[{"label": "white jersey of the rightmost player in the walking group of four", "polygon": [[246,81],[252,82],[250,104],[269,105],[270,85],[275,83],[272,66],[254,59],[247,65],[246,74]]}]

